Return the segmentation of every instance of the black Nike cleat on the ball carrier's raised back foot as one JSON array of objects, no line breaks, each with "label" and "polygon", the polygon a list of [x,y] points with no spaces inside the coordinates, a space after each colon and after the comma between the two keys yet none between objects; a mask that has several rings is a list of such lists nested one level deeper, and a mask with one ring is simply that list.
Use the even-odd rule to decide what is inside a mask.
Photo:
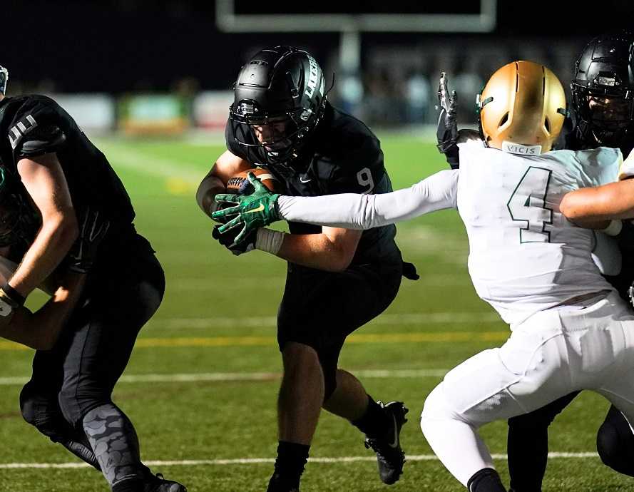
[{"label": "black Nike cleat on the ball carrier's raised back foot", "polygon": [[405,414],[409,410],[405,408],[402,401],[390,401],[388,404],[377,401],[377,403],[387,412],[392,423],[383,436],[367,437],[365,447],[372,448],[377,453],[381,481],[387,485],[392,485],[399,480],[401,473],[403,473],[405,453],[401,449],[400,434],[403,424],[407,422]]}]

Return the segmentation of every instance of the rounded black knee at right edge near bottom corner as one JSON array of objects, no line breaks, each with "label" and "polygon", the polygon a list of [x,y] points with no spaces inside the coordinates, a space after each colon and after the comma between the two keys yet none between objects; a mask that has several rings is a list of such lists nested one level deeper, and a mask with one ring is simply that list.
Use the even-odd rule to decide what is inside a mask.
[{"label": "rounded black knee at right edge near bottom corner", "polygon": [[634,476],[634,434],[620,411],[610,409],[597,434],[601,461],[618,473]]}]

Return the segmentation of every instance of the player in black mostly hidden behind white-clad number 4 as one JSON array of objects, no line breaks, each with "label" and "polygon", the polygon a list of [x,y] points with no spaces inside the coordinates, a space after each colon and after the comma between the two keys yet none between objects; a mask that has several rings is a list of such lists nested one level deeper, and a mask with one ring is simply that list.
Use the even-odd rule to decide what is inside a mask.
[{"label": "player in black mostly hidden behind white-clad number 4", "polygon": [[[585,150],[604,146],[620,148],[625,157],[630,154],[634,147],[633,56],[634,36],[630,33],[599,36],[588,43],[576,61],[571,83],[574,120],[568,121],[571,130],[563,134],[560,147]],[[456,94],[450,96],[442,81],[439,97],[438,148],[449,165],[457,168],[456,141],[461,137],[478,138],[479,134],[456,129]],[[630,221],[623,222],[623,230],[618,235],[623,266],[618,276],[608,277],[622,297],[628,297],[628,287],[634,280],[633,230]],[[548,426],[578,394],[569,394],[542,409],[508,420],[511,492],[541,492],[548,460]],[[603,463],[634,476],[634,435],[623,414],[614,406],[610,407],[598,431],[597,450]]]}]

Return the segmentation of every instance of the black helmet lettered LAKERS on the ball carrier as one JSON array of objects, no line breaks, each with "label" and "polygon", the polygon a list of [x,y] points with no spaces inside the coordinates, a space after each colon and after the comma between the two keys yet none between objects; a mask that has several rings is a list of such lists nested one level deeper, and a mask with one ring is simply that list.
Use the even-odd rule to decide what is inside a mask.
[{"label": "black helmet lettered LAKERS on the ball carrier", "polygon": [[255,53],[238,73],[229,119],[237,143],[262,165],[292,168],[324,115],[324,74],[315,58],[292,46]]}]

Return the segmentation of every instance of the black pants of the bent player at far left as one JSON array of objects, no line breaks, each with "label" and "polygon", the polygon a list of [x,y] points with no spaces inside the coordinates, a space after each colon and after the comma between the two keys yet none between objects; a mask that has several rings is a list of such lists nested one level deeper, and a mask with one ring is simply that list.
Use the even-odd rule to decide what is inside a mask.
[{"label": "black pants of the bent player at far left", "polygon": [[20,404],[24,419],[53,441],[81,429],[88,411],[111,403],[136,337],[163,298],[165,275],[137,236],[126,255],[89,274],[83,299],[50,351],[37,351]]}]

